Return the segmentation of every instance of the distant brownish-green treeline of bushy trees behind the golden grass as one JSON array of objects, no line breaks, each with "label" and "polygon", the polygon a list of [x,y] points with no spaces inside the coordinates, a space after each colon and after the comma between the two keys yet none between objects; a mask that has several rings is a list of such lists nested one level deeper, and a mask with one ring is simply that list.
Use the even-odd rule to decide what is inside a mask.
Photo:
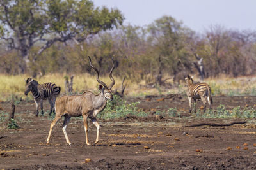
[{"label": "distant brownish-green treeline of bushy trees behind the golden grass", "polygon": [[[83,51],[81,50],[83,46]],[[0,72],[19,74],[17,50],[1,47]],[[111,31],[100,31],[80,44],[75,41],[54,43],[39,56],[33,46],[29,53],[27,73],[90,73],[88,55],[100,74],[107,75],[115,55],[115,76],[147,82],[163,81],[168,75],[179,81],[185,74],[198,74],[198,61],[204,76],[245,76],[256,72],[256,32],[209,27],[204,33],[192,31],[170,16],[163,16],[145,27],[120,25]],[[33,57],[36,56],[36,60]]]}]

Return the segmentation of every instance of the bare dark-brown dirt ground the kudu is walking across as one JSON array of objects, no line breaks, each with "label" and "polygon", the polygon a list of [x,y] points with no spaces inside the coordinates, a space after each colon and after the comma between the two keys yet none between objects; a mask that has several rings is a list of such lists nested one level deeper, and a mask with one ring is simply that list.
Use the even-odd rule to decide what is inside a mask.
[{"label": "bare dark-brown dirt ground the kudu is walking across", "polygon": [[[256,120],[227,127],[184,127],[244,120],[191,117],[188,99],[179,95],[128,101],[140,101],[138,107],[148,111],[148,118],[99,120],[100,141],[90,146],[85,144],[83,120],[79,118],[71,118],[67,127],[72,145],[67,145],[61,130],[63,119],[47,144],[52,121],[47,115],[49,104],[44,103],[44,116],[35,117],[35,103],[22,101],[15,115],[20,129],[7,129],[7,123],[0,122],[0,169],[256,169]],[[213,108],[220,104],[228,109],[246,104],[255,107],[256,96],[220,96],[213,101]],[[10,112],[10,103],[0,106]],[[182,118],[154,117],[155,111],[172,107],[183,111]],[[96,128],[90,121],[88,134],[93,143]],[[91,161],[85,163],[87,158]]]}]

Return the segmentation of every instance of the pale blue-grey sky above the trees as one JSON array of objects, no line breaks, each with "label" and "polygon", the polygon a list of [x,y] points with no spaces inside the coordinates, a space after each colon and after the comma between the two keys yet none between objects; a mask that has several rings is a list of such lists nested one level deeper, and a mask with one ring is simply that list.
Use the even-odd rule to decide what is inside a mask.
[{"label": "pale blue-grey sky above the trees", "polygon": [[95,6],[118,8],[125,22],[131,25],[148,25],[163,15],[197,32],[211,25],[227,29],[256,31],[256,0],[93,0]]}]

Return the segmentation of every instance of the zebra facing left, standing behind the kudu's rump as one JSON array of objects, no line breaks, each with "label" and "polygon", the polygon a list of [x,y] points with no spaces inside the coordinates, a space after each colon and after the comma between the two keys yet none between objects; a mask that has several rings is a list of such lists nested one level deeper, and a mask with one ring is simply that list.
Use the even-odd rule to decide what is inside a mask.
[{"label": "zebra facing left, standing behind the kudu's rump", "polygon": [[38,116],[38,103],[40,103],[42,115],[44,115],[43,111],[43,100],[48,99],[51,111],[49,115],[53,112],[55,112],[54,105],[57,96],[60,94],[61,88],[56,86],[54,83],[44,83],[42,85],[38,84],[38,81],[33,80],[32,78],[28,78],[26,81],[26,89],[25,89],[25,95],[28,95],[28,93],[31,91],[34,96],[34,101],[36,103],[36,117]]}]

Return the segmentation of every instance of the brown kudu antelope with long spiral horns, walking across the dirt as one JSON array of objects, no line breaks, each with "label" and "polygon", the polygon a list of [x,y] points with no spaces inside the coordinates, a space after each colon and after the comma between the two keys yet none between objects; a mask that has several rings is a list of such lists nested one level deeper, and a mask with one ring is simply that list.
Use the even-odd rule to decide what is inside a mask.
[{"label": "brown kudu antelope with long spiral horns, walking across the dirt", "polygon": [[112,76],[113,69],[115,68],[113,57],[112,57],[112,64],[113,67],[111,68],[109,72],[109,78],[111,79],[111,85],[109,87],[103,82],[100,81],[99,79],[99,71],[96,67],[92,66],[92,60],[90,57],[89,58],[89,64],[94,69],[97,73],[97,81],[99,82],[99,90],[101,92],[99,94],[93,94],[93,92],[84,92],[83,94],[76,94],[76,95],[71,95],[71,96],[62,96],[56,100],[55,104],[55,110],[56,110],[56,116],[54,120],[51,123],[49,135],[47,138],[47,143],[49,143],[52,128],[58,120],[62,116],[65,117],[63,125],[62,125],[62,131],[65,135],[66,141],[68,145],[71,145],[67,132],[66,132],[66,127],[70,121],[71,117],[80,117],[83,116],[83,122],[84,122],[84,131],[85,131],[85,138],[86,138],[86,145],[90,145],[88,141],[88,124],[87,124],[87,118],[90,118],[97,127],[97,137],[95,140],[95,143],[99,142],[99,130],[100,130],[100,125],[97,122],[97,114],[100,113],[100,111],[104,110],[107,100],[112,100],[113,96],[111,94],[111,88],[115,84],[115,80]]}]

